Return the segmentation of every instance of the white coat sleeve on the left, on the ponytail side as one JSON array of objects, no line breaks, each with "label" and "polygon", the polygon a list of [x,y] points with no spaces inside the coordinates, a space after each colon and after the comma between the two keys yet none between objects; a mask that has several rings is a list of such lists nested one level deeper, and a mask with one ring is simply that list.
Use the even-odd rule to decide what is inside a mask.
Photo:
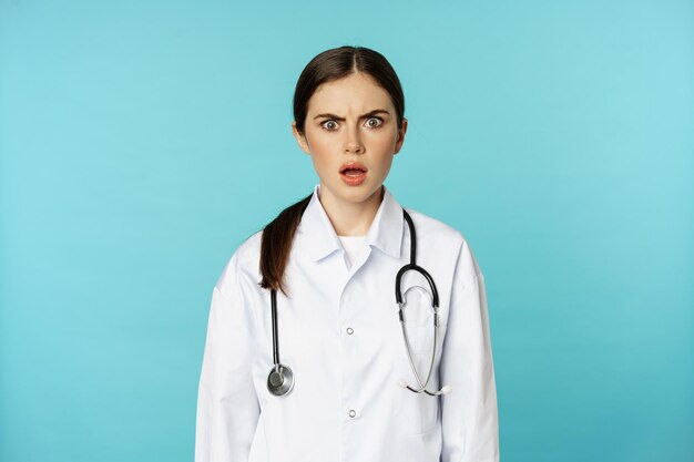
[{"label": "white coat sleeve on the left, on the ponytail side", "polygon": [[212,291],[197,391],[195,462],[246,462],[259,418],[252,376],[254,318],[244,302],[237,257]]}]

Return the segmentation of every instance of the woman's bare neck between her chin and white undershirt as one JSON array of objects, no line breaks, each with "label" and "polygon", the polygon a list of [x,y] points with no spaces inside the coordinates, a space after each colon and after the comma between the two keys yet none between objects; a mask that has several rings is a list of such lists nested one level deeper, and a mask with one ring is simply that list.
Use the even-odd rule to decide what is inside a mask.
[{"label": "woman's bare neck between her chin and white undershirt", "polygon": [[333,195],[322,184],[318,198],[338,236],[365,236],[384,199],[384,194],[385,189],[381,185],[365,201],[355,203]]}]

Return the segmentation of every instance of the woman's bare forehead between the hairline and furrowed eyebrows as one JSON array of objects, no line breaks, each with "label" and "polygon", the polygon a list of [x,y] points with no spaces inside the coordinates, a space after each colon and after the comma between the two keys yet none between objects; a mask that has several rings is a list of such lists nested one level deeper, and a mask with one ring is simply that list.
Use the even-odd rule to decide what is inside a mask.
[{"label": "woman's bare forehead between the hairline and furrowed eyebrows", "polygon": [[308,100],[309,113],[369,111],[374,107],[392,107],[390,94],[364,73],[323,83]]}]

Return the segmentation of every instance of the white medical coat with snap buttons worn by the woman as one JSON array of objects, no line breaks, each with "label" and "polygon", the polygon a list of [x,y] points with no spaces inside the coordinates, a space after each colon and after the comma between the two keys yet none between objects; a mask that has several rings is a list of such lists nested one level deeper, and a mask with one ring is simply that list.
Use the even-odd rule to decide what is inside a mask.
[{"label": "white medical coat with snap buttons worn by the woman", "polygon": [[[385,186],[384,186],[385,187]],[[286,268],[289,298],[277,292],[279,360],[292,368],[289,394],[267,390],[273,368],[269,290],[258,268],[262,232],[231,256],[212,291],[200,377],[196,462],[494,462],[497,390],[484,278],[463,236],[406,208],[417,264],[439,294],[439,341],[428,390],[405,350],[395,278],[409,263],[402,208],[386,188],[348,268],[314,188]],[[427,280],[402,277],[412,357],[426,377],[433,340]],[[422,380],[425,380],[422,377]]]}]

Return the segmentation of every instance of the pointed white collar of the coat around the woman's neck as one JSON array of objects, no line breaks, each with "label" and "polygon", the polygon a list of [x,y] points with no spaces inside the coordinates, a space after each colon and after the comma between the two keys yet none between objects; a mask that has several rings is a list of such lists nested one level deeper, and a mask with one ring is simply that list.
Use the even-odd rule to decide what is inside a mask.
[{"label": "pointed white collar of the coat around the woman's neck", "polygon": [[[306,211],[304,211],[297,229],[297,233],[305,240],[306,255],[314,261],[343,248],[339,237],[325,208],[323,208],[323,204],[320,204],[319,195],[320,183],[314,187],[314,194],[306,206]],[[402,207],[384,185],[384,198],[366,234],[366,243],[391,257],[400,258],[404,222]]]}]

